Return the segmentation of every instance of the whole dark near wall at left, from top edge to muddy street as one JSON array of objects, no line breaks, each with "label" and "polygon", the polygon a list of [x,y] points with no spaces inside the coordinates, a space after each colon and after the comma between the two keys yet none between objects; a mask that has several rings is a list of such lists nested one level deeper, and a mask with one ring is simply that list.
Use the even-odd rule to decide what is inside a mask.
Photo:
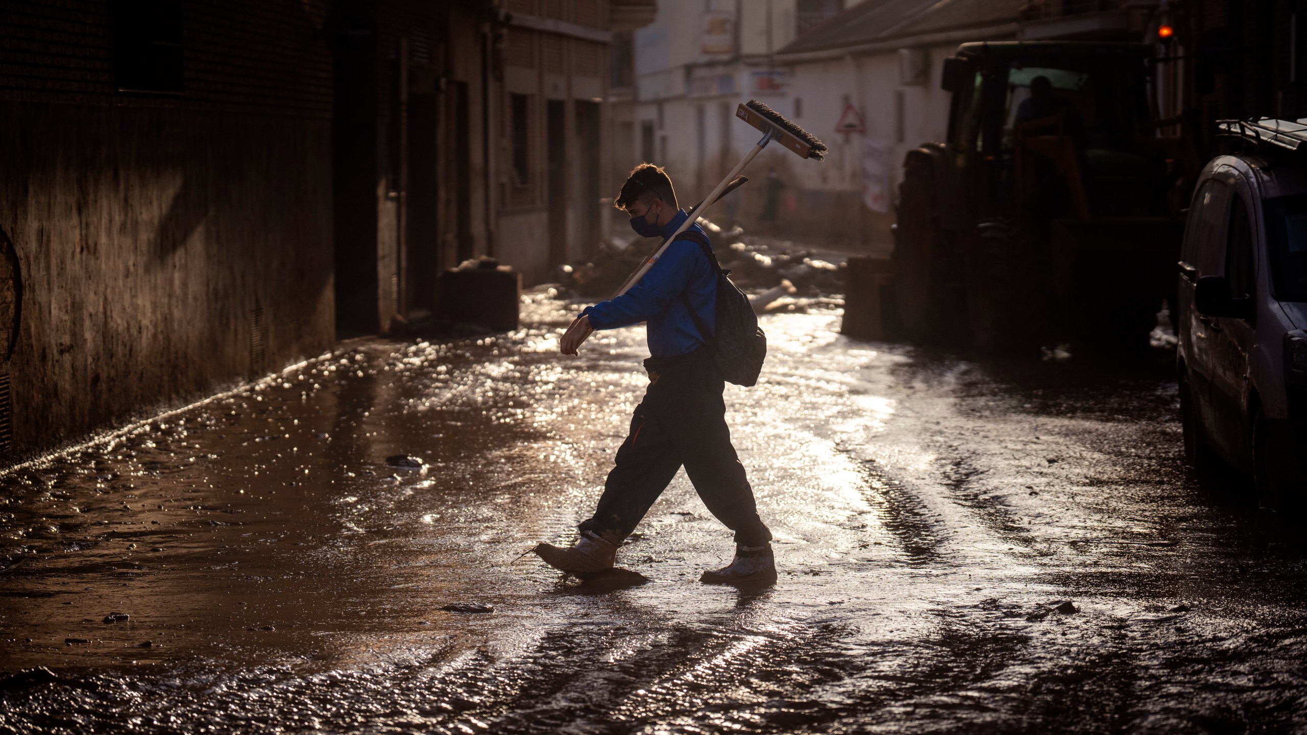
[{"label": "whole dark near wall at left, from top edge to muddy street", "polygon": [[335,339],[325,3],[187,1],[179,34],[149,21],[175,7],[3,4],[9,459]]}]

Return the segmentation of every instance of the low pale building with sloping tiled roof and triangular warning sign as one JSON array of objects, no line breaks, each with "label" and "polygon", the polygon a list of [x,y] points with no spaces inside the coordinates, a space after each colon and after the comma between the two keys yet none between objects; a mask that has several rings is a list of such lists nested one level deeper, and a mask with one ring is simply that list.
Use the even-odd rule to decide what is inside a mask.
[{"label": "low pale building with sloping tiled roof and triangular warning sign", "polygon": [[783,47],[776,61],[789,77],[787,109],[830,146],[821,167],[792,167],[802,204],[791,221],[889,252],[903,158],[945,139],[944,59],[961,43],[1018,38],[1027,5],[864,0]]}]

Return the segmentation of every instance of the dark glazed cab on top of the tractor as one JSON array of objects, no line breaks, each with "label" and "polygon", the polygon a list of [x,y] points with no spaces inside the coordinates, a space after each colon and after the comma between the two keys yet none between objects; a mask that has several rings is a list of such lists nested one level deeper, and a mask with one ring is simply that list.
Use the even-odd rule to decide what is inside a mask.
[{"label": "dark glazed cab on top of the tractor", "polygon": [[976,214],[1165,213],[1174,167],[1149,114],[1150,58],[1144,43],[963,44],[944,86],[955,162],[996,187]]}]

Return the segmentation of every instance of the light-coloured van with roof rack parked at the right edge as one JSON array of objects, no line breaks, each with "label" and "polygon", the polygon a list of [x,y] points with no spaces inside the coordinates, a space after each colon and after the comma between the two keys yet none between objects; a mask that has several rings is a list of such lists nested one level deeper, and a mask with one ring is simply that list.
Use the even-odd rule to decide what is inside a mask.
[{"label": "light-coloured van with roof rack parked at the right edge", "polygon": [[1184,453],[1249,475],[1282,509],[1307,497],[1307,126],[1218,127],[1238,152],[1199,175],[1180,252]]}]

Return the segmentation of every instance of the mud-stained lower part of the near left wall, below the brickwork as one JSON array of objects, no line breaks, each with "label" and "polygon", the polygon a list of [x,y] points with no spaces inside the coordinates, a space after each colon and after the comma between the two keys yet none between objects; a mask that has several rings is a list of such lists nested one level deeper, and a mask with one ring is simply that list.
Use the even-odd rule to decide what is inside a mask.
[{"label": "mud-stained lower part of the near left wall, below the brickwork", "polygon": [[332,344],[327,122],[0,103],[0,131],[18,453]]}]

